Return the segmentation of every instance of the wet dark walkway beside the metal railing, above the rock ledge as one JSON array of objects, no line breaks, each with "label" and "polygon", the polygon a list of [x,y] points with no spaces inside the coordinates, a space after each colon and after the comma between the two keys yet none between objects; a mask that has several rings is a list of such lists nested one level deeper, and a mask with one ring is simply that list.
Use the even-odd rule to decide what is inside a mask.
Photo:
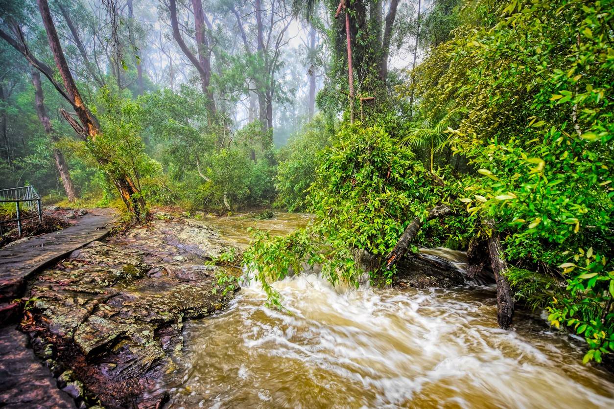
[{"label": "wet dark walkway beside the metal railing, above the rock ledge", "polygon": [[32,273],[103,238],[116,219],[114,209],[93,209],[74,226],[0,249],[0,304],[20,297]]}]

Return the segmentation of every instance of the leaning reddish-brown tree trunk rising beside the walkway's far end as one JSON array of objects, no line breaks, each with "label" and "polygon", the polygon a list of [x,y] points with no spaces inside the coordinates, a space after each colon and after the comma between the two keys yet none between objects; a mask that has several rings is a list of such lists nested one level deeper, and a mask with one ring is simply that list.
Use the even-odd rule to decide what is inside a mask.
[{"label": "leaning reddish-brown tree trunk rising beside the walkway's far end", "polygon": [[[49,40],[49,47],[53,53],[53,60],[60,71],[64,88],[66,88],[66,93],[68,94],[67,101],[75,109],[80,124],[78,124],[77,121],[75,121],[74,118],[72,118],[71,115],[69,115],[69,113],[65,110],[61,110],[62,115],[64,118],[66,118],[69,124],[71,124],[72,128],[75,129],[77,134],[82,136],[84,139],[95,140],[100,134],[98,121],[96,121],[96,118],[91,115],[87,107],[85,107],[79,90],[77,89],[74,79],[72,78],[72,74],[68,68],[68,64],[66,63],[66,58],[64,58],[58,32],[55,29],[55,25],[51,17],[49,4],[47,3],[47,0],[36,0],[36,3],[39,7],[39,12],[41,12],[42,23],[45,27],[45,31],[47,32],[47,40]],[[37,67],[37,69],[39,69],[39,67]],[[41,70],[39,69],[39,71]],[[64,96],[66,97],[65,94]],[[95,159],[103,167],[109,164],[109,158],[96,157]],[[144,218],[147,215],[145,201],[141,196],[140,189],[133,182],[132,178],[129,175],[123,174],[117,176],[114,175],[111,177],[111,180],[119,191],[126,208],[128,208],[128,211],[133,213],[137,218]]]}]

